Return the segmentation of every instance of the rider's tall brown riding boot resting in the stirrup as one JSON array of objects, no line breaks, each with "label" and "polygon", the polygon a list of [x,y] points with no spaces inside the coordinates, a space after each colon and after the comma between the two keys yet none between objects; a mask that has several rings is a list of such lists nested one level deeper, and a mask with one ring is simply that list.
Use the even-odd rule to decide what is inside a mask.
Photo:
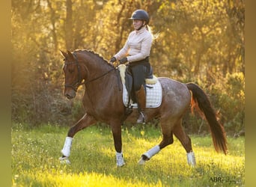
[{"label": "rider's tall brown riding boot resting in the stirrup", "polygon": [[144,86],[141,85],[141,89],[135,91],[136,99],[138,102],[138,120],[137,123],[146,123],[147,122],[147,114],[145,113],[146,109],[146,93],[144,91]]}]

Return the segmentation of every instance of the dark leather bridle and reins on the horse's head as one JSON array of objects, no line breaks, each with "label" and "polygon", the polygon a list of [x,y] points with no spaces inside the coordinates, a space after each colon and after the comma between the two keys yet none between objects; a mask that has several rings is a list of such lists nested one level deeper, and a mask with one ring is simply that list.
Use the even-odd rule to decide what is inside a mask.
[{"label": "dark leather bridle and reins on the horse's head", "polygon": [[77,67],[77,71],[78,71],[78,79],[76,82],[74,82],[73,84],[71,85],[67,85],[65,84],[64,87],[65,88],[72,88],[74,91],[77,91],[77,89],[79,88],[80,85],[86,85],[88,84],[89,82],[93,82],[97,79],[100,79],[102,78],[103,76],[106,76],[106,74],[108,74],[109,72],[111,72],[112,70],[115,70],[115,67],[113,67],[111,70],[107,71],[106,73],[103,73],[103,75],[101,76],[97,76],[96,78],[94,79],[90,79],[88,81],[85,81],[84,79],[82,79],[82,76],[81,76],[81,69],[80,69],[80,64],[77,60],[77,57],[76,57],[76,54],[73,53],[73,56],[75,57],[75,62],[67,62],[67,63],[64,63],[64,65],[67,65],[67,64],[76,64],[76,67]]}]

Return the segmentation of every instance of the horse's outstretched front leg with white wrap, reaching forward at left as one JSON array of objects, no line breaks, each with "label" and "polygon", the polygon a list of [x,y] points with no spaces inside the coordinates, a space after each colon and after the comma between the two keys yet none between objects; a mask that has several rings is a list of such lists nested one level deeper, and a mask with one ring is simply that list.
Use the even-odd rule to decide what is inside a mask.
[{"label": "horse's outstretched front leg with white wrap, reaching forward at left", "polygon": [[62,156],[60,161],[62,163],[70,164],[68,157],[70,156],[71,145],[73,141],[73,136],[76,132],[85,129],[88,126],[94,124],[96,120],[91,115],[85,114],[74,126],[71,126],[70,130],[67,132],[67,137],[64,142],[64,147],[61,150]]}]

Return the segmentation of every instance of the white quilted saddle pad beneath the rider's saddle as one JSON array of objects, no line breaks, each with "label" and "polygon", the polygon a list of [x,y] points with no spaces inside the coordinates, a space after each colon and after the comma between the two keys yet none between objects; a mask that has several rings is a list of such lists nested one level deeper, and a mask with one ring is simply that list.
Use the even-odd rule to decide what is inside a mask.
[{"label": "white quilted saddle pad beneath the rider's saddle", "polygon": [[[146,108],[157,108],[162,103],[162,85],[159,81],[154,85],[147,85],[147,96],[146,96]],[[123,101],[124,105],[128,105],[128,93],[127,88],[123,85]],[[132,102],[132,100],[131,100]],[[137,103],[130,103],[133,108],[138,108]]]}]

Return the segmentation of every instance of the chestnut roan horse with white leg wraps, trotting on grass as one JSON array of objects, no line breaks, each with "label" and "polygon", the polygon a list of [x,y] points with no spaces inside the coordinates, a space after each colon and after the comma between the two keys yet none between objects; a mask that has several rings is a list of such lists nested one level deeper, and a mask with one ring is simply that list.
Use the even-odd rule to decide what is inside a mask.
[{"label": "chestnut roan horse with white leg wraps, trotting on grass", "polygon": [[[116,162],[118,167],[124,165],[122,152],[121,124],[124,123],[125,106],[123,102],[123,85],[118,69],[100,55],[87,50],[62,52],[64,55],[64,96],[73,99],[79,85],[85,85],[82,102],[85,115],[73,125],[67,133],[64,147],[61,150],[61,162],[70,163],[71,144],[76,132],[93,125],[97,121],[111,126],[115,144]],[[162,104],[158,108],[147,108],[148,120],[159,118],[162,129],[162,141],[141,155],[138,164],[142,165],[162,148],[174,142],[175,135],[186,150],[187,162],[195,165],[191,140],[182,127],[182,118],[188,108],[195,106],[207,119],[217,152],[227,153],[225,130],[217,121],[207,95],[194,83],[183,84],[173,79],[159,77],[162,85]],[[135,123],[138,111],[133,109],[127,121]]]}]

